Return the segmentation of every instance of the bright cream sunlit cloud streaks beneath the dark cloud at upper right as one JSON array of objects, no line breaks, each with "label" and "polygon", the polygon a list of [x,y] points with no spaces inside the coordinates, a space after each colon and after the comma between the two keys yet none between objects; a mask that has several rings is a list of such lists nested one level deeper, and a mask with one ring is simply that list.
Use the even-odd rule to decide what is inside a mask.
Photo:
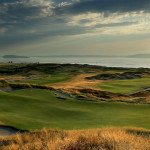
[{"label": "bright cream sunlit cloud streaks beneath the dark cloud at upper right", "polygon": [[[70,26],[82,26],[97,34],[150,33],[150,13],[85,13],[70,17]],[[90,30],[90,32],[91,32]]]}]

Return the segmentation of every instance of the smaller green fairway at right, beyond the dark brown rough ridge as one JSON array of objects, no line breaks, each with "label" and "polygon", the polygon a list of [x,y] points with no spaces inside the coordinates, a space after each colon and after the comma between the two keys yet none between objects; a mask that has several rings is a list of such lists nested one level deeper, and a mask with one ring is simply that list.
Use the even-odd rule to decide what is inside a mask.
[{"label": "smaller green fairway at right, beyond the dark brown rough ridge", "polygon": [[129,94],[150,87],[150,77],[104,81],[97,87],[109,92]]}]

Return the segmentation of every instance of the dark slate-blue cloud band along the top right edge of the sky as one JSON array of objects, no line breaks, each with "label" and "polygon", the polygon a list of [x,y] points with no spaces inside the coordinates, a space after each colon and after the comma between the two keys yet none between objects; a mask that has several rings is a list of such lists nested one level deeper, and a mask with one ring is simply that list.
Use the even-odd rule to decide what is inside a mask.
[{"label": "dark slate-blue cloud band along the top right edge of the sky", "polygon": [[132,12],[150,11],[149,0],[80,0],[69,7],[60,8],[62,12]]}]

